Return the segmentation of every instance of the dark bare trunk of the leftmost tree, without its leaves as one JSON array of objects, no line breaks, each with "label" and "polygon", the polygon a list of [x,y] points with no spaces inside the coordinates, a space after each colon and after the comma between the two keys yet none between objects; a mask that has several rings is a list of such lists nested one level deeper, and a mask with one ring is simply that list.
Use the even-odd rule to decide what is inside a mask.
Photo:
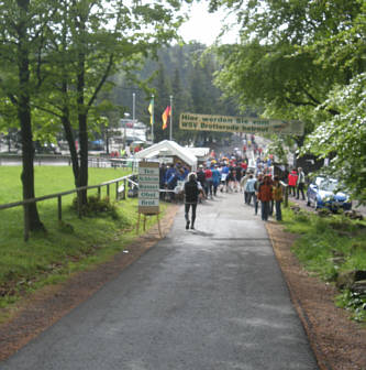
[{"label": "dark bare trunk of the leftmost tree, without its leaves", "polygon": [[[27,12],[30,0],[18,0],[21,12]],[[31,118],[31,97],[30,97],[30,61],[27,48],[26,24],[24,21],[19,23],[19,44],[18,44],[18,68],[19,68],[19,89],[18,99],[18,118],[21,126],[22,134],[22,183],[23,183],[23,199],[32,199],[34,193],[34,148],[32,135],[32,118]],[[31,203],[24,206],[24,221],[29,231],[44,230],[41,222],[36,203]],[[27,230],[25,230],[26,232]]]}]

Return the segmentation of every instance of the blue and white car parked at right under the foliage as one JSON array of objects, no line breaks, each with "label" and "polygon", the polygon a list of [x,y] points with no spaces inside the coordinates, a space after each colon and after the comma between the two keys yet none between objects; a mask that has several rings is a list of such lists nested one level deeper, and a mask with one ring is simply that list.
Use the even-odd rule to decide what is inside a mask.
[{"label": "blue and white car parked at right under the foliage", "polygon": [[326,176],[317,176],[308,187],[308,206],[318,208],[329,208],[337,210],[352,208],[350,196],[340,191],[340,183],[336,178]]}]

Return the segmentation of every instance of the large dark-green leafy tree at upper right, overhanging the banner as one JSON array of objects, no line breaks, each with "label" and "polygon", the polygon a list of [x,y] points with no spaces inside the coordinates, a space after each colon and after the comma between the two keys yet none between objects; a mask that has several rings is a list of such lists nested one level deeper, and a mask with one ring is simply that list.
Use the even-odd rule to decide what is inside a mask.
[{"label": "large dark-green leafy tree at upper right, overhanging the banner", "polygon": [[[242,24],[241,43],[219,48],[223,68],[217,81],[228,95],[236,95],[243,107],[265,107],[268,116],[310,122],[315,109],[339,113],[322,104],[336,84],[350,81],[351,64],[364,63],[356,53],[342,62],[337,57],[336,65],[329,63],[330,54],[361,13],[362,1],[211,1],[212,9],[222,3]],[[354,45],[362,36],[353,39],[343,43]]]}]

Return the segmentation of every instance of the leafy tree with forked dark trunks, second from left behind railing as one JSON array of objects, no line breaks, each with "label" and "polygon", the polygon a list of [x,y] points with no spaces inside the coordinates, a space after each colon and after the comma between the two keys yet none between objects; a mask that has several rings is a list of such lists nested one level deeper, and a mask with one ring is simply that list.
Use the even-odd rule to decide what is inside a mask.
[{"label": "leafy tree with forked dark trunks, second from left behind railing", "polygon": [[[46,67],[40,72],[44,94],[34,107],[37,112],[59,118],[70,148],[76,186],[88,184],[88,139],[100,113],[106,113],[98,96],[111,87],[110,76],[117,70],[133,78],[143,57],[176,36],[180,20],[175,10],[180,4],[168,1],[162,7],[155,1],[154,6],[142,6],[137,0],[127,6],[112,0],[108,7],[102,0],[59,2],[48,28],[43,59]],[[86,202],[82,192],[81,203]]]}]

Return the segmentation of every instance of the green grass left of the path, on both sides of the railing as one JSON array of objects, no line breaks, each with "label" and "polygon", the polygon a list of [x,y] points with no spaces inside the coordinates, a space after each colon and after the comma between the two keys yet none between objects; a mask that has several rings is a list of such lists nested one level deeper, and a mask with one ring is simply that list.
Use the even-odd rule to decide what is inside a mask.
[{"label": "green grass left of the path, on both sides of the railing", "polygon": [[[20,167],[0,167],[0,204],[21,199]],[[126,172],[90,168],[89,184],[121,177]],[[74,188],[70,167],[36,167],[36,196]],[[106,192],[106,189],[103,191]],[[32,233],[23,241],[21,207],[0,210],[0,308],[9,308],[21,296],[44,285],[66,280],[69,274],[111,259],[136,238],[137,199],[115,203],[110,192],[108,211],[91,213],[79,219],[71,209],[74,195],[63,197],[63,222],[57,220],[57,199],[38,204],[46,233]],[[90,192],[96,195],[97,191]],[[102,194],[102,198],[106,194]],[[164,211],[164,205],[162,210]],[[147,219],[147,228],[155,218]],[[0,311],[0,322],[8,315]]]}]

